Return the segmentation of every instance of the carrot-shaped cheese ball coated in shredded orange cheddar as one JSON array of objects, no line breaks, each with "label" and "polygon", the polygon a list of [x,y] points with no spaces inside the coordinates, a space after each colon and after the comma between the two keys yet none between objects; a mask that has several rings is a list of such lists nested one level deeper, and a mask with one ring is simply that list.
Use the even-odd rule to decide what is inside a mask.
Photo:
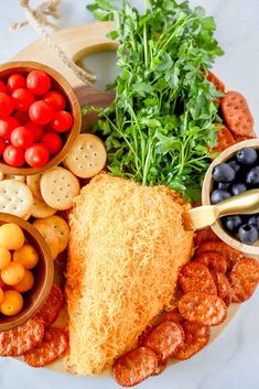
[{"label": "carrot-shaped cheese ball coated in shredded orange cheddar", "polygon": [[132,348],[174,299],[179,268],[190,260],[187,204],[164,186],[100,174],[71,214],[66,369],[93,375]]}]

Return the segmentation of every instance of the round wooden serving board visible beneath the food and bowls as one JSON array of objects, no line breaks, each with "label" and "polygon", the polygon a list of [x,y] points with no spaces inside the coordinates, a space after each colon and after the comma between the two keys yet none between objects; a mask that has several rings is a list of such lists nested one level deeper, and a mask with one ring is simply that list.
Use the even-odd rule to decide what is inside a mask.
[{"label": "round wooden serving board visible beneath the food and bowls", "polygon": [[[97,53],[107,50],[116,50],[116,43],[107,39],[107,33],[112,30],[114,23],[111,22],[97,22],[90,23],[83,26],[76,26],[72,29],[65,29],[53,33],[54,41],[65,51],[65,53],[76,63],[83,56],[87,54]],[[13,61],[36,61],[48,66],[52,66],[57,72],[62,73],[63,76],[71,83],[72,87],[79,99],[82,106],[91,105],[96,107],[106,107],[112,100],[112,95],[98,90],[94,87],[84,85],[79,79],[75,77],[69,68],[64,65],[60,58],[53,54],[53,52],[42,41],[29,45],[20,53],[18,53]],[[88,118],[91,121],[93,118]],[[56,263],[57,264],[57,263]],[[62,267],[60,268],[62,272]],[[56,274],[58,275],[58,274]],[[219,326],[212,328],[211,342],[213,342],[228,325],[230,320],[234,317],[240,305],[231,304],[228,309],[227,320]],[[64,320],[66,320],[65,310],[62,312],[57,323],[57,326],[63,326]],[[176,365],[173,361],[171,365]],[[171,366],[172,368],[173,366]],[[62,360],[57,360],[47,366],[52,370],[65,372]],[[109,371],[98,375],[98,377],[109,377]],[[104,386],[105,387],[105,386]]]}]

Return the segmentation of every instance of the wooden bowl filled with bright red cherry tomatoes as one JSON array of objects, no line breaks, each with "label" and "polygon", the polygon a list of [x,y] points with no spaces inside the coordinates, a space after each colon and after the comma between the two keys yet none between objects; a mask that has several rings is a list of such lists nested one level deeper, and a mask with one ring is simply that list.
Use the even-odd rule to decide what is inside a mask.
[{"label": "wooden bowl filled with bright red cherry tomatoes", "polygon": [[35,62],[0,65],[0,171],[39,174],[61,163],[80,131],[71,85]]}]

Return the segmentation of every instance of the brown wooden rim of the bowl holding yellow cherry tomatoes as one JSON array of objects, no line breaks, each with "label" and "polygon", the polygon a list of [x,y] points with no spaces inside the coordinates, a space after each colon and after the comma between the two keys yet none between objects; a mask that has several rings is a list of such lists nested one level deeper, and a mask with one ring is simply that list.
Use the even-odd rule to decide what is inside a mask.
[{"label": "brown wooden rim of the bowl holding yellow cherry tomatoes", "polygon": [[52,289],[52,284],[54,280],[54,263],[51,256],[51,251],[45,240],[37,231],[37,229],[33,227],[29,221],[18,216],[4,214],[4,213],[0,213],[0,221],[3,221],[4,224],[14,223],[18,226],[20,226],[23,230],[25,230],[28,235],[32,236],[41,247],[42,256],[40,256],[40,260],[45,262],[45,274],[43,279],[43,288],[37,291],[35,300],[33,301],[33,303],[24,314],[22,314],[22,311],[21,311],[18,314],[19,315],[18,317],[15,315],[13,316],[13,320],[12,320],[12,317],[7,316],[9,318],[9,322],[0,323],[0,332],[2,332],[2,331],[9,331],[18,327],[19,325],[22,325],[41,309],[41,306],[46,301]]}]

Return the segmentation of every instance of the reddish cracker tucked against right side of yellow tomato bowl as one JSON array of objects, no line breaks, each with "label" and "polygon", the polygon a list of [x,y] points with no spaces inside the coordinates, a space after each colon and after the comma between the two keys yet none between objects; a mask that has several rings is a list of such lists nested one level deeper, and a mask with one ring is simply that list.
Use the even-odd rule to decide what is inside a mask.
[{"label": "reddish cracker tucked against right side of yellow tomato bowl", "polygon": [[43,318],[44,326],[53,324],[58,316],[58,313],[63,305],[63,293],[61,289],[53,284],[51,293],[46,299],[45,303],[41,307],[39,314]]}]

